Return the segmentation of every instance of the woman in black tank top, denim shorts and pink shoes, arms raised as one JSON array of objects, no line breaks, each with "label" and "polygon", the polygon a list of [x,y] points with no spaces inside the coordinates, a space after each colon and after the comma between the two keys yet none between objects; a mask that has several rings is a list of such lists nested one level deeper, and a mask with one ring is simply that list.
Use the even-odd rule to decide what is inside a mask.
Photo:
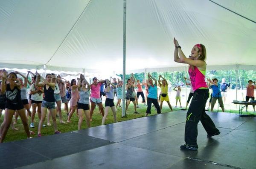
[{"label": "woman in black tank top, denim shorts and pink shoes, arms raised", "polygon": [[[55,107],[55,97],[54,97],[54,89],[55,89],[55,83],[53,83],[52,80],[52,74],[46,74],[44,79],[43,77],[36,72],[36,81],[35,85],[38,87],[44,87],[44,100],[42,102],[42,108],[41,108],[41,119],[38,125],[38,137],[41,137],[41,129],[42,125],[44,123],[44,119],[47,114],[47,110],[49,109],[50,114],[52,116],[52,123],[54,127],[54,134],[59,134],[61,132],[58,131],[57,128],[57,122],[56,122],[56,107]],[[39,80],[42,80],[43,83],[39,83]]]}]

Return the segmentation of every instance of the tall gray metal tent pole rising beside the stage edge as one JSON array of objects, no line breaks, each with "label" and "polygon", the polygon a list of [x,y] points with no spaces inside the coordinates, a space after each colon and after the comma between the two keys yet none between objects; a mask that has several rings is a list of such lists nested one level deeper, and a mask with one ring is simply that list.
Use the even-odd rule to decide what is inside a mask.
[{"label": "tall gray metal tent pole rising beside the stage edge", "polygon": [[122,99],[122,116],[126,116],[125,112],[125,61],[126,61],[126,0],[124,2],[124,14],[123,14],[123,99]]}]

